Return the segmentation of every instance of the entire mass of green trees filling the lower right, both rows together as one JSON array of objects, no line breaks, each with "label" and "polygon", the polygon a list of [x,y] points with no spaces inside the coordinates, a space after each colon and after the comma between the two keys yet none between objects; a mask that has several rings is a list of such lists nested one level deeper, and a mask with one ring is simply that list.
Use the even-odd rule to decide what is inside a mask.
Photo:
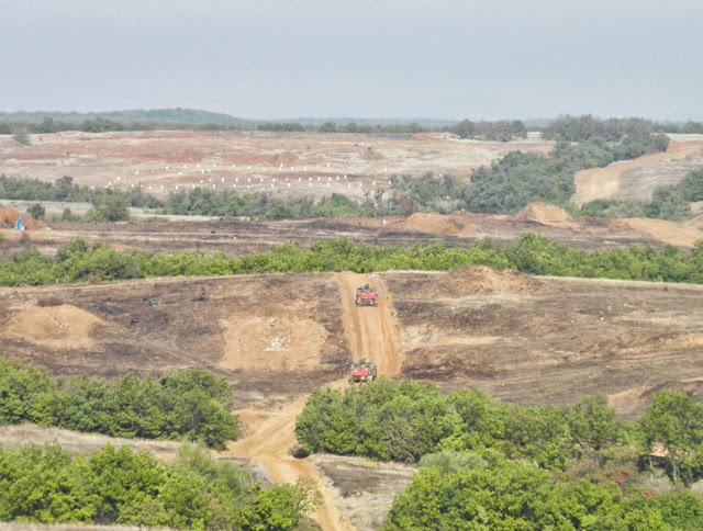
[{"label": "entire mass of green trees filling the lower right, both rows together", "polygon": [[703,477],[703,405],[661,391],[636,422],[603,396],[525,407],[380,379],[317,389],[298,418],[305,452],[419,463],[383,529],[700,529],[703,498],[638,487]]}]

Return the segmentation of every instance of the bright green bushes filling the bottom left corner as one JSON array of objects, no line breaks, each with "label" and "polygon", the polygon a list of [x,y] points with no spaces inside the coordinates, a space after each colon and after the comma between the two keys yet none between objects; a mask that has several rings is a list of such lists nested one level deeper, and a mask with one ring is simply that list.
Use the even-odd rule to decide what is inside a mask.
[{"label": "bright green bushes filling the bottom left corner", "polygon": [[308,520],[311,499],[308,488],[264,488],[188,447],[169,463],[110,444],[89,456],[56,445],[0,448],[0,521],[290,530]]}]

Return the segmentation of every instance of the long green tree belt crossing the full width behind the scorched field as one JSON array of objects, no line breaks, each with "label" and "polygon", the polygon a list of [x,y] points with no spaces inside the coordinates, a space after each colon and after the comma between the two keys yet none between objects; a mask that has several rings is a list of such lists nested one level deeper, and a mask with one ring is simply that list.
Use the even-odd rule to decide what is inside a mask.
[{"label": "long green tree belt crossing the full width behind the scorched field", "polygon": [[55,257],[43,256],[29,245],[11,258],[0,260],[0,285],[336,270],[449,271],[467,264],[511,268],[538,275],[703,283],[703,241],[690,252],[681,252],[671,246],[659,251],[638,245],[584,251],[532,233],[503,247],[482,240],[466,248],[446,248],[442,242],[410,248],[375,247],[342,238],[319,241],[305,250],[284,244],[272,246],[268,252],[227,258],[224,253],[207,257],[194,252],[116,251],[99,241],[88,246],[76,239]]}]

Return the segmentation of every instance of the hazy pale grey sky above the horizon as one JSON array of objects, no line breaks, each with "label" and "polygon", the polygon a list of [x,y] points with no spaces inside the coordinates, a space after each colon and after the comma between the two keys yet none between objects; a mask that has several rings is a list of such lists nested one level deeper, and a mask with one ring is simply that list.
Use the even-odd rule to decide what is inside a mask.
[{"label": "hazy pale grey sky above the horizon", "polygon": [[0,0],[0,111],[703,116],[702,0]]}]

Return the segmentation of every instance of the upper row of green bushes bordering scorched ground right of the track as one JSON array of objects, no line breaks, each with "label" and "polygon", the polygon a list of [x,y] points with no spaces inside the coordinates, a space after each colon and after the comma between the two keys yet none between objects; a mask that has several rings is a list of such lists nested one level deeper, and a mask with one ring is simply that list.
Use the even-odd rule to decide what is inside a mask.
[{"label": "upper row of green bushes bordering scorched ground right of the track", "polygon": [[309,453],[417,463],[443,450],[491,450],[553,471],[584,456],[605,461],[612,447],[637,444],[643,465],[660,467],[674,483],[703,477],[703,405],[671,391],[658,392],[637,422],[625,423],[604,396],[570,408],[525,407],[476,389],[445,395],[432,384],[380,379],[344,392],[314,391],[295,434]]}]

